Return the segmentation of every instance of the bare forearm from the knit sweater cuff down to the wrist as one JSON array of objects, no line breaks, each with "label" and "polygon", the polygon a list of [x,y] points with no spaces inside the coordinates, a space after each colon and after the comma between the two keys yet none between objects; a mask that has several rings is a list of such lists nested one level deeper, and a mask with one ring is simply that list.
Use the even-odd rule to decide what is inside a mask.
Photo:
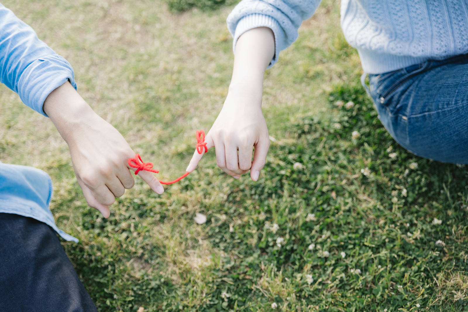
[{"label": "bare forearm from the knit sweater cuff down to the wrist", "polygon": [[263,75],[275,53],[273,31],[266,27],[246,31],[237,40],[230,91],[262,94]]}]

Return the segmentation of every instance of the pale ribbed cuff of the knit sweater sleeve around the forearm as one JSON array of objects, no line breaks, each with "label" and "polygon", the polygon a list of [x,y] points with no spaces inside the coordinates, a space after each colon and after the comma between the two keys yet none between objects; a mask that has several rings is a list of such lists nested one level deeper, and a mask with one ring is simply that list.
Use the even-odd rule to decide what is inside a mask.
[{"label": "pale ribbed cuff of the knit sweater sleeve around the forearm", "polygon": [[239,37],[241,37],[241,35],[247,30],[251,30],[257,27],[268,27],[275,35],[275,55],[267,67],[270,68],[278,61],[279,51],[282,50],[281,44],[285,42],[285,32],[279,23],[269,15],[250,14],[242,17],[239,22],[237,22],[235,28],[233,51],[235,52],[235,45]]}]

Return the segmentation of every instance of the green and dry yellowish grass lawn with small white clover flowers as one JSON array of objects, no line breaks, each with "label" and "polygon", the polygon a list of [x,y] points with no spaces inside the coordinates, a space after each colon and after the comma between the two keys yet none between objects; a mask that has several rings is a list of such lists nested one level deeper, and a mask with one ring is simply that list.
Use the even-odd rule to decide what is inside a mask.
[{"label": "green and dry yellowish grass lawn with small white clover flowers", "polygon": [[[70,61],[81,96],[161,179],[184,172],[227,94],[232,7],[3,4]],[[80,239],[63,246],[102,312],[468,311],[467,167],[399,147],[361,72],[339,1],[322,1],[266,73],[272,141],[256,183],[224,174],[211,151],[161,196],[136,178],[102,219],[52,123],[3,85],[1,161],[51,176],[56,223]]]}]

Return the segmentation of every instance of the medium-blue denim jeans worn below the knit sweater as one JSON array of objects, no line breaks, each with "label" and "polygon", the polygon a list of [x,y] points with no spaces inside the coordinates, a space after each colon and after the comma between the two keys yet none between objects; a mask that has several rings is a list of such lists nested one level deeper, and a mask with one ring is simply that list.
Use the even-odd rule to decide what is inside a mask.
[{"label": "medium-blue denim jeans worn below the knit sweater", "polygon": [[468,54],[370,74],[369,94],[403,148],[440,162],[468,163]]}]

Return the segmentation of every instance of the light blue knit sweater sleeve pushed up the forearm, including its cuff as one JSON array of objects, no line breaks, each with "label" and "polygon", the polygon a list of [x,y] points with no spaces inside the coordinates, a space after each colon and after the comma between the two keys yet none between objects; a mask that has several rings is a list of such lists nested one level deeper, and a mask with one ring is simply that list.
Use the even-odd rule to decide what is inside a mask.
[{"label": "light blue knit sweater sleeve pushed up the forearm, including its cuff", "polygon": [[227,17],[227,28],[237,39],[247,30],[268,27],[275,35],[275,55],[268,67],[278,60],[279,52],[299,36],[302,21],[311,17],[321,0],[242,0]]}]

